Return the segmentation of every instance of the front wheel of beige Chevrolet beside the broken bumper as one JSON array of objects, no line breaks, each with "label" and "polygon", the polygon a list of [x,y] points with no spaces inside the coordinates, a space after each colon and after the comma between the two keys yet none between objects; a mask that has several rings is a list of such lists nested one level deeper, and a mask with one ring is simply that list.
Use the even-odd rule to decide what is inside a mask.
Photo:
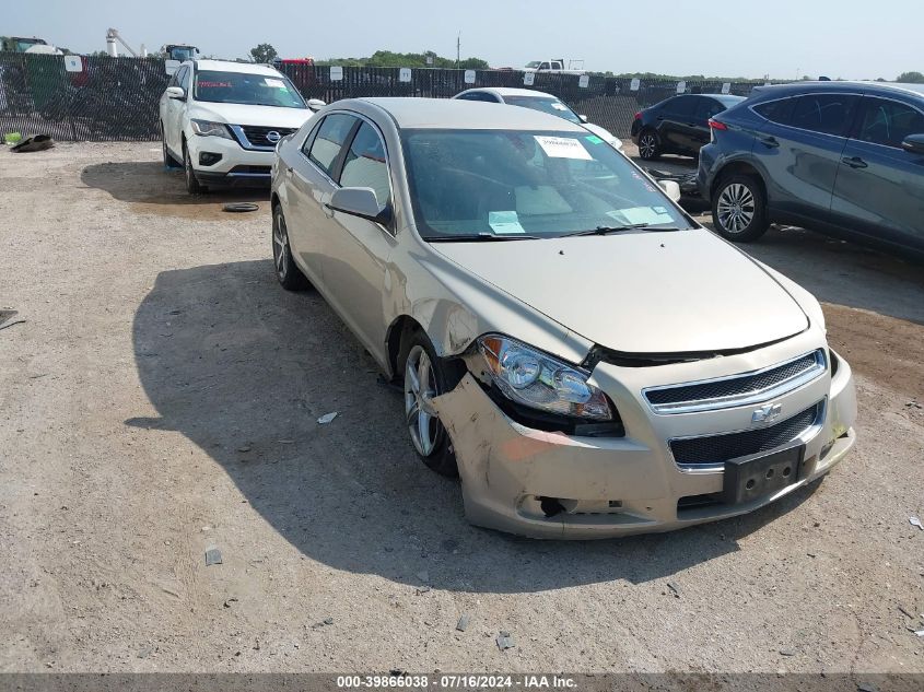
[{"label": "front wheel of beige Chevrolet beside the broken bumper", "polygon": [[405,374],[405,420],[414,450],[430,469],[441,476],[457,477],[453,441],[428,401],[453,389],[461,379],[461,368],[447,366],[440,360],[420,329],[406,333],[398,362]]}]

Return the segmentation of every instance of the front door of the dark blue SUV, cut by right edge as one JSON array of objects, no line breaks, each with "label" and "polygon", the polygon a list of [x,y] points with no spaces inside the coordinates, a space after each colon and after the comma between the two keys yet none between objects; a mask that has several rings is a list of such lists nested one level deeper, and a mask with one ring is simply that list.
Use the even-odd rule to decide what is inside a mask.
[{"label": "front door of the dark blue SUV, cut by right edge", "polygon": [[831,211],[846,230],[924,249],[924,155],[901,148],[909,134],[924,134],[924,113],[902,101],[864,97]]}]

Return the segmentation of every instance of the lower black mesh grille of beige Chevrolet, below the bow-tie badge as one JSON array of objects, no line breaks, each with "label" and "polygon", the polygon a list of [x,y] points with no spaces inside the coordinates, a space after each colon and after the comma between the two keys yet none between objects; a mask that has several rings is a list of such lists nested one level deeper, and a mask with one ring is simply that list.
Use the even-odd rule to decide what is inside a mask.
[{"label": "lower black mesh grille of beige Chevrolet, below the bow-tie badge", "polygon": [[771,451],[797,439],[820,422],[823,410],[823,402],[818,402],[769,427],[671,439],[670,451],[680,466],[722,465],[729,459]]}]

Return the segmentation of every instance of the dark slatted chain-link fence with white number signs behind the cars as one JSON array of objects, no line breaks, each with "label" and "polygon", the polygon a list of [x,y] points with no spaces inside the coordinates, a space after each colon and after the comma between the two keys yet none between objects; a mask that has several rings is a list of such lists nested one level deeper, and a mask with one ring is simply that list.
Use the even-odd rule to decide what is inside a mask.
[{"label": "dark slatted chain-link fence with white number signs behind the cars", "polygon": [[[756,82],[530,75],[515,70],[330,68],[282,63],[306,98],[327,103],[359,96],[448,98],[476,86],[526,86],[554,94],[618,137],[639,110],[677,93],[747,96]],[[0,134],[50,134],[58,140],[154,140],[157,101],[169,77],[156,58],[0,52]],[[762,83],[762,82],[761,82]],[[244,124],[246,125],[246,124]]]}]

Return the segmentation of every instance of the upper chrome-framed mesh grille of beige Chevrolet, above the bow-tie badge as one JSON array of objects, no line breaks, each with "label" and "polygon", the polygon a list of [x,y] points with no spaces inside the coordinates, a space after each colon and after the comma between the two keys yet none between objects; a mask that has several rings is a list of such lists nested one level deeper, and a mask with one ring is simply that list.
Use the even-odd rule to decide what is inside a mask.
[{"label": "upper chrome-framed mesh grille of beige Chevrolet, above the bow-tie badge", "polygon": [[656,413],[690,413],[759,403],[792,391],[824,372],[819,349],[771,367],[698,383],[652,387],[645,399]]}]

